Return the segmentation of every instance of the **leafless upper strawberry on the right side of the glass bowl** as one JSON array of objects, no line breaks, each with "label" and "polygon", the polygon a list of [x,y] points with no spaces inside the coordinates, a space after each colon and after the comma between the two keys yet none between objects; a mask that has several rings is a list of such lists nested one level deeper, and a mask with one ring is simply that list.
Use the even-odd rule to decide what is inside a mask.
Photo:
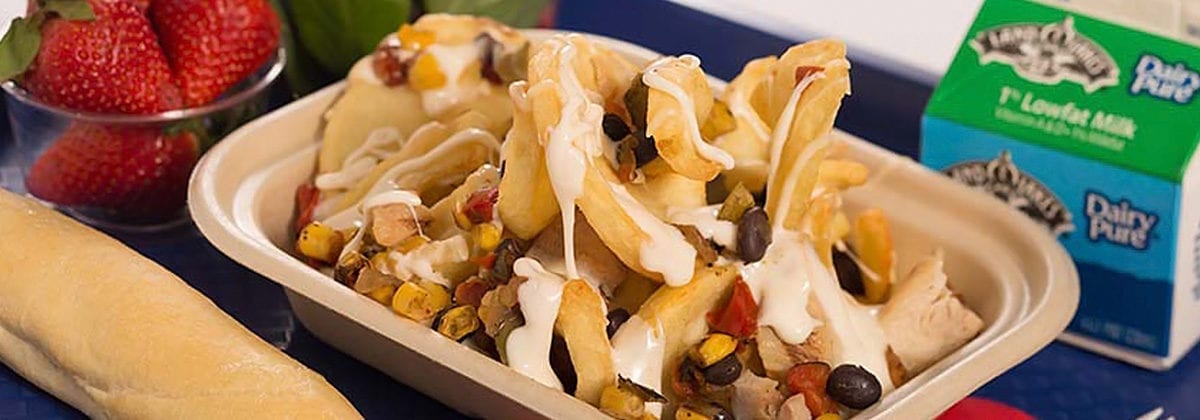
[{"label": "leafless upper strawberry on the right side of the glass bowl", "polygon": [[221,96],[280,44],[280,19],[268,0],[155,0],[150,19],[188,107]]}]

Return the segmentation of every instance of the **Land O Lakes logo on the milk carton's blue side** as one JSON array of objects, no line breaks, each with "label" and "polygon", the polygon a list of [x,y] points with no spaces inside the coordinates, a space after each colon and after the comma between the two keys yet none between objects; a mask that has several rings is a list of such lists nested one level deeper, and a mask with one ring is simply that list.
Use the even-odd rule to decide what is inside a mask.
[{"label": "Land O Lakes logo on the milk carton's blue side", "polygon": [[1075,230],[1070,211],[1054,191],[1021,172],[1006,150],[991,161],[967,161],[946,168],[952,179],[988,192],[1034,222],[1046,227],[1055,236]]}]

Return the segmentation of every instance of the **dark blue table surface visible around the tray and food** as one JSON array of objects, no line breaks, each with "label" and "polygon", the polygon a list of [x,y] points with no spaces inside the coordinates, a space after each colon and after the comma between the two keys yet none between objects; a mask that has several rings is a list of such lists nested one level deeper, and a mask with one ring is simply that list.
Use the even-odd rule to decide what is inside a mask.
[{"label": "dark blue table surface visible around the tray and food", "polygon": [[[672,18],[654,18],[661,16]],[[727,22],[660,0],[565,0],[559,7],[558,24],[626,38],[660,52],[696,52],[706,59],[707,68],[725,78],[736,73],[745,59],[778,53],[788,43],[766,34],[742,29],[737,32]],[[731,32],[740,35],[731,38],[727,35]],[[738,47],[730,48],[731,44]],[[862,67],[856,67],[854,84],[854,97],[844,107],[839,126],[914,156],[919,114],[929,88]],[[0,124],[0,186],[19,190],[20,173],[6,124],[7,120]],[[194,226],[155,235],[113,234],[178,274],[263,340],[325,376],[364,416],[461,416],[322,343],[296,322],[277,284],[222,254]],[[1172,371],[1158,373],[1054,343],[974,395],[1044,419],[1133,419],[1157,407],[1178,419],[1195,419],[1200,418],[1196,390],[1200,390],[1200,352],[1183,359]],[[83,415],[0,365],[0,419],[77,418]]]}]

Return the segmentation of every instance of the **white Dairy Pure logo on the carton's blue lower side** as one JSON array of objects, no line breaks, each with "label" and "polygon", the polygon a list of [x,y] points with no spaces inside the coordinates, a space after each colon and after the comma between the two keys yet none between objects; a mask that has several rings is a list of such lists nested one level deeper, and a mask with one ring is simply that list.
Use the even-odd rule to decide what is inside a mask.
[{"label": "white Dairy Pure logo on the carton's blue lower side", "polygon": [[1094,191],[1084,194],[1084,210],[1087,212],[1087,239],[1093,242],[1145,250],[1158,223],[1158,215],[1135,208],[1128,199],[1112,200]]}]

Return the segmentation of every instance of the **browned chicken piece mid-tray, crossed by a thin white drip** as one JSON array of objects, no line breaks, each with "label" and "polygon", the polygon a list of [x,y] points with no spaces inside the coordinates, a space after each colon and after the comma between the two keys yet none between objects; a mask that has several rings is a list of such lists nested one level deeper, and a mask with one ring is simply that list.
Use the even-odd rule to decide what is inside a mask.
[{"label": "browned chicken piece mid-tray, crossed by a thin white drip", "polygon": [[[526,256],[541,262],[546,270],[565,276],[563,223],[550,223],[534,239]],[[599,288],[605,296],[612,296],[617,286],[629,275],[625,264],[604,245],[580,212],[576,212],[575,223],[575,264],[580,276]]]}]

